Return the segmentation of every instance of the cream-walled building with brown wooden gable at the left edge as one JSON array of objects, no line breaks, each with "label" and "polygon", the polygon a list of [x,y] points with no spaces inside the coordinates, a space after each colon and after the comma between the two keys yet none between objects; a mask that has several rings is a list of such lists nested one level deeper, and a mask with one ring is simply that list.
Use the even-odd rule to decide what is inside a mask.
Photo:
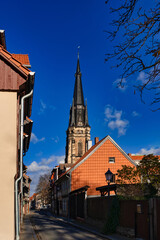
[{"label": "cream-walled building with brown wooden gable at the left edge", "polygon": [[26,117],[31,115],[34,85],[28,63],[28,55],[6,50],[5,32],[0,30],[0,239],[5,240],[18,239],[23,213],[23,155],[32,130]]}]

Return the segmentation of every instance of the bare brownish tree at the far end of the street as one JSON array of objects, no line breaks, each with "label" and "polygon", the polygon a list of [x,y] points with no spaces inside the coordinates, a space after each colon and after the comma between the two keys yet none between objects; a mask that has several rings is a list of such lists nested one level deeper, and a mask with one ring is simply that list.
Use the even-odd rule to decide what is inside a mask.
[{"label": "bare brownish tree at the far end of the street", "polygon": [[40,194],[43,204],[51,203],[50,173],[46,173],[39,177],[36,193]]}]

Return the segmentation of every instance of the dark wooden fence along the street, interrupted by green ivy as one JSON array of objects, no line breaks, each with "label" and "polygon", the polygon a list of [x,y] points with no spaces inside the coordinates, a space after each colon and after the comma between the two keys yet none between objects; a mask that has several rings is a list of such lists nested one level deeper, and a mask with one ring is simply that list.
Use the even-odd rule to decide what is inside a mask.
[{"label": "dark wooden fence along the street, interrupted by green ivy", "polygon": [[[90,223],[107,221],[115,197],[87,199],[87,217]],[[119,200],[119,227],[124,235],[144,240],[160,240],[160,199]]]}]

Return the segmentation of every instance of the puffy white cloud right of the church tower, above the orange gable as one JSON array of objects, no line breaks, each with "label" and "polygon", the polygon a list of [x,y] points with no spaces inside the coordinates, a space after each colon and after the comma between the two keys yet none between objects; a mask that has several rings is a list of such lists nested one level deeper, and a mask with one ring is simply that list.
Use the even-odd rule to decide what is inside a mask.
[{"label": "puffy white cloud right of the church tower, above the orange gable", "polygon": [[108,122],[108,127],[112,130],[118,130],[118,136],[126,134],[129,121],[122,119],[122,110],[118,111],[113,109],[111,105],[107,105],[105,108],[105,121]]}]

